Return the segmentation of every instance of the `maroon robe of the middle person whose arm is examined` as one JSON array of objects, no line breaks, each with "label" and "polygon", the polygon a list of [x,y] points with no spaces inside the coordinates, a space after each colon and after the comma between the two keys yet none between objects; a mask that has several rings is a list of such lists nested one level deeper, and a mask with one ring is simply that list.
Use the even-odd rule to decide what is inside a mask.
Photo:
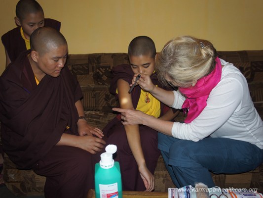
[{"label": "maroon robe of the middle person whose arm is examined", "polygon": [[[130,65],[122,64],[113,68],[113,80],[111,82],[110,92],[116,96],[117,80],[123,79],[129,84],[132,82],[133,71]],[[156,73],[150,76],[154,85],[161,85],[157,81]],[[134,108],[137,107],[140,98],[141,88],[135,86],[131,95]],[[169,107],[161,104],[161,114],[163,115]],[[140,109],[139,109],[140,110]],[[139,125],[141,145],[146,160],[148,169],[154,174],[157,160],[160,155],[160,151],[157,148],[157,131],[150,127]],[[124,126],[120,121],[120,114],[118,114],[104,129],[104,134],[107,136],[107,145],[117,145],[117,153],[114,160],[118,161],[121,169],[122,188],[124,191],[145,191],[143,180],[140,176],[137,163],[129,147],[126,132]]]}]

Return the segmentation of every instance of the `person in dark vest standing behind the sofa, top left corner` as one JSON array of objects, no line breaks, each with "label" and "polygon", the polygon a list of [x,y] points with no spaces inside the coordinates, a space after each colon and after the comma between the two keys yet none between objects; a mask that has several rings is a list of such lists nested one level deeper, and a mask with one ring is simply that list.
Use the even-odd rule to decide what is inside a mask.
[{"label": "person in dark vest standing behind the sofa, top left corner", "polygon": [[61,22],[44,18],[44,11],[36,0],[19,0],[14,17],[16,28],[2,35],[5,49],[5,67],[13,62],[22,51],[30,49],[30,35],[39,27],[52,27],[60,30]]}]

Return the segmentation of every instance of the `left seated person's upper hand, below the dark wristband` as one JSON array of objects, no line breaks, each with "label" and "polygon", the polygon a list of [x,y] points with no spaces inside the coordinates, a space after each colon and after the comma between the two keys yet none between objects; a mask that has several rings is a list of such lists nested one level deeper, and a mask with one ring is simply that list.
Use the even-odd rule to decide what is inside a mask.
[{"label": "left seated person's upper hand, below the dark wristband", "polygon": [[78,122],[77,122],[77,130],[78,130],[79,136],[85,136],[85,135],[92,136],[92,135],[95,135],[98,138],[103,138],[103,136],[104,136],[103,132],[100,129],[89,125],[86,122],[86,120],[84,120],[84,119],[79,119],[78,120]]}]

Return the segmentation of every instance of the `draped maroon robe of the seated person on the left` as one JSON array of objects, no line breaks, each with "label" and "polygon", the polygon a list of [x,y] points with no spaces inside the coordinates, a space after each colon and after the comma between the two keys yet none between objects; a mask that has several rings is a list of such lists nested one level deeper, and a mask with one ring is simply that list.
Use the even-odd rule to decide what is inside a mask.
[{"label": "draped maroon robe of the seated person on the left", "polygon": [[59,77],[45,75],[37,86],[28,54],[22,52],[0,77],[3,149],[17,168],[46,176],[46,198],[83,198],[94,188],[92,155],[55,146],[63,133],[78,135],[79,84],[65,66]]}]

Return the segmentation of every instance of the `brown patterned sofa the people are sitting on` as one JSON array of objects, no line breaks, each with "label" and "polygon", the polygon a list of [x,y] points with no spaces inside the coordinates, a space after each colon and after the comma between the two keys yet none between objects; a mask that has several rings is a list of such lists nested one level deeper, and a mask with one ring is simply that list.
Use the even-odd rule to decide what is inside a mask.
[{"label": "brown patterned sofa the people are sitting on", "polygon": [[[263,50],[219,51],[220,57],[232,62],[245,75],[251,97],[263,117]],[[111,68],[128,63],[126,53],[70,54],[67,66],[77,78],[83,91],[83,106],[87,121],[103,128],[113,117],[115,98],[109,93]],[[182,112],[176,120],[183,120]],[[167,192],[175,187],[159,157],[154,173],[155,191]],[[263,164],[257,169],[234,175],[213,174],[216,186],[221,188],[257,188],[263,192]],[[4,157],[4,180],[7,188],[18,196],[43,195],[45,177],[32,170],[18,170],[7,155]]]}]

